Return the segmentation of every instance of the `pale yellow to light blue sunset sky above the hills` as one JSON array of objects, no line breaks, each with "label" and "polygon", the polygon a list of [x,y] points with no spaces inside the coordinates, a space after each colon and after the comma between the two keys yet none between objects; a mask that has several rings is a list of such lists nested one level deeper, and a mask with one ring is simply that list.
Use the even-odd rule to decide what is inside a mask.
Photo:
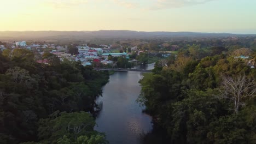
[{"label": "pale yellow to light blue sunset sky above the hills", "polygon": [[1,0],[0,31],[256,34],[256,0]]}]

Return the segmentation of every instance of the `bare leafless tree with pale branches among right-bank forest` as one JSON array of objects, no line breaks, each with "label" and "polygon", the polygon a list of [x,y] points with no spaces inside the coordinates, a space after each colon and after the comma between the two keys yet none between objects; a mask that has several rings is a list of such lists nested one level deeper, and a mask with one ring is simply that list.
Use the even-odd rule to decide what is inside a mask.
[{"label": "bare leafless tree with pale branches among right-bank forest", "polygon": [[234,112],[238,113],[240,106],[246,105],[246,101],[251,99],[255,92],[255,82],[248,79],[245,74],[235,76],[224,76],[220,85],[222,98],[234,102]]}]

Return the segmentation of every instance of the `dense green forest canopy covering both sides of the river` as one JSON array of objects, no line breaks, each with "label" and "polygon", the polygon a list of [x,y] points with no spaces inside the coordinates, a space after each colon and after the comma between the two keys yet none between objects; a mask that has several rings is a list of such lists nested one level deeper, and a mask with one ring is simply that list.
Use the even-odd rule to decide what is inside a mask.
[{"label": "dense green forest canopy covering both sides of the river", "polygon": [[[131,51],[131,41],[142,52],[133,51],[130,58],[140,64],[162,57],[153,73],[139,81],[138,102],[146,105],[171,142],[256,142],[255,37],[116,43]],[[107,143],[106,136],[94,130],[92,117],[107,72],[60,61],[46,51],[39,56],[0,45],[7,47],[0,51],[0,143]],[[77,45],[68,45],[69,52],[78,53]],[[172,53],[164,59],[161,51]],[[48,64],[36,63],[39,58],[48,59]],[[133,66],[124,57],[108,58],[111,68]]]}]

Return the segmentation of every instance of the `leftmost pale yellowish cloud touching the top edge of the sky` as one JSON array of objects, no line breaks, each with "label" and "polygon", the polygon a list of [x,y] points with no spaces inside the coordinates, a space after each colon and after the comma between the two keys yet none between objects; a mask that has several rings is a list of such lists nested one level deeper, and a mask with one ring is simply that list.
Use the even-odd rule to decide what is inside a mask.
[{"label": "leftmost pale yellowish cloud touching the top edge of the sky", "polygon": [[44,4],[55,8],[71,8],[78,7],[82,4],[87,4],[88,0],[46,0]]}]

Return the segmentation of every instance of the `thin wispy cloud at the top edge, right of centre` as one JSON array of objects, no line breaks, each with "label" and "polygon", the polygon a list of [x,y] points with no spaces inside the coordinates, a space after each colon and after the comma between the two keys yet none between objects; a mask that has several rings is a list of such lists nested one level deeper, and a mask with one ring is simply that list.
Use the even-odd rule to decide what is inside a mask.
[{"label": "thin wispy cloud at the top edge, right of centre", "polygon": [[187,7],[190,5],[204,4],[211,1],[216,1],[216,0],[157,0],[155,4],[149,9],[158,10],[158,9],[181,8],[181,7]]}]

